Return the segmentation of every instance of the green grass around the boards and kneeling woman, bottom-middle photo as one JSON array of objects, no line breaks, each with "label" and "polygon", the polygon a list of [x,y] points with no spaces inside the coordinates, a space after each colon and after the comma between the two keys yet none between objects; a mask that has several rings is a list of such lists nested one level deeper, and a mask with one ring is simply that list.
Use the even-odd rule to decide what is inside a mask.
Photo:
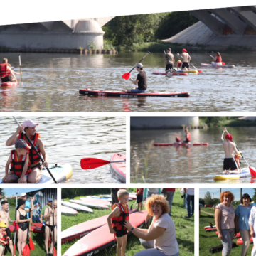
[{"label": "green grass around the boards and kneeling woman, bottom-middle photo", "polygon": [[[79,199],[75,198],[75,199]],[[132,208],[137,208],[137,203],[135,201],[129,201],[129,206],[133,204]],[[144,208],[142,208],[144,210]],[[65,216],[61,215],[61,230],[72,227],[78,223],[82,223],[86,220],[92,220],[94,218],[101,217],[103,215],[110,214],[111,210],[97,210],[93,209],[94,213],[78,213],[78,216]],[[179,191],[174,193],[174,201],[171,207],[171,214],[174,215],[172,219],[175,223],[176,238],[178,241],[178,246],[180,250],[180,255],[191,256],[194,255],[194,218],[183,218],[186,215],[186,208],[183,208],[183,199],[181,198],[181,193]],[[145,227],[144,227],[145,228]],[[61,246],[61,255],[64,254],[68,248],[73,245],[76,241],[65,242]],[[116,255],[116,247],[114,247],[111,252],[110,248],[99,252],[99,256],[114,256]],[[127,256],[133,256],[135,253],[144,250],[144,247],[140,244],[139,238],[135,235],[129,235],[127,238]]]}]

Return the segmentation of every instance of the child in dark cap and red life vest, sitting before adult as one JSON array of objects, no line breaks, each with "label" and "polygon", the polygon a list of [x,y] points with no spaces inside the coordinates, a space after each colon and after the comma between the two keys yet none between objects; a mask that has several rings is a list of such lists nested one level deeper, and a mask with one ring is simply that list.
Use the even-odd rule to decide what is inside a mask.
[{"label": "child in dark cap and red life vest, sitting before adult", "polygon": [[[30,162],[28,161],[28,151],[31,149],[23,139],[18,139],[15,149],[11,150],[11,156],[6,163],[6,176],[4,183],[28,183],[28,174],[31,172]],[[9,166],[11,169],[9,171]],[[9,172],[8,172],[9,171]]]}]

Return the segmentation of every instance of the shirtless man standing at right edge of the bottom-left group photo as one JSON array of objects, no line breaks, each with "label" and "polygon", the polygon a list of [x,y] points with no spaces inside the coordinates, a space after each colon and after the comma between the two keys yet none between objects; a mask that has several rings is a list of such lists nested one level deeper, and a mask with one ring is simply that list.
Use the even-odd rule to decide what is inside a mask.
[{"label": "shirtless man standing at right edge of the bottom-left group photo", "polygon": [[[54,226],[53,226],[53,213],[54,213]],[[43,218],[46,220],[46,229],[45,229],[45,246],[46,246],[46,256],[53,254],[53,229],[54,229],[54,242],[57,239],[57,200],[53,201],[53,206],[50,206],[45,209]],[[50,243],[50,252],[48,250],[48,241],[51,236]]]}]

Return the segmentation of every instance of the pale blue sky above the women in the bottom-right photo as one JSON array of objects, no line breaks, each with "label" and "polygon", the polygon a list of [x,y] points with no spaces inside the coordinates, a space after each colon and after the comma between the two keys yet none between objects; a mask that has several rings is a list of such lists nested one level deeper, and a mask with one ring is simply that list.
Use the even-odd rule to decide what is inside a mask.
[{"label": "pale blue sky above the women in the bottom-right photo", "polygon": [[[199,188],[199,198],[204,198],[206,192],[209,191],[211,196],[214,198],[220,198],[220,188]],[[235,201],[240,200],[240,188],[221,188],[221,192],[230,191],[235,196]],[[250,197],[254,195],[255,191],[253,188],[242,188],[242,194],[248,193]]]}]

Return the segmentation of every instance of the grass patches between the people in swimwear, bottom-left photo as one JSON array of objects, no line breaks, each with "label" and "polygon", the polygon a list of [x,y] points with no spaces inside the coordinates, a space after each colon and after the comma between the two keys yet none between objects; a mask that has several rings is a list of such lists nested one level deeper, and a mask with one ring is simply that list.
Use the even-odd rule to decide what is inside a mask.
[{"label": "grass patches between the people in swimwear, bottom-left photo", "polygon": [[[14,206],[10,206],[9,210],[10,210],[11,220],[15,220],[15,208],[14,208]],[[12,223],[9,223],[9,224],[12,224]],[[12,236],[12,240],[14,242],[14,233],[11,233],[11,236]],[[41,255],[45,256],[46,255],[46,247],[44,245],[44,236],[43,236],[43,234],[32,232],[32,241],[34,243],[36,243],[36,245],[35,245],[35,250],[31,251],[31,256],[33,256],[33,255],[35,255],[35,256],[41,256]],[[16,235],[16,252],[15,252],[15,255],[18,256],[17,242],[18,242],[18,240],[17,240],[17,235]],[[4,255],[11,256],[11,251],[9,250],[9,246],[7,246],[7,248],[8,249],[5,250]],[[57,243],[56,243],[55,249],[57,250]]]}]

